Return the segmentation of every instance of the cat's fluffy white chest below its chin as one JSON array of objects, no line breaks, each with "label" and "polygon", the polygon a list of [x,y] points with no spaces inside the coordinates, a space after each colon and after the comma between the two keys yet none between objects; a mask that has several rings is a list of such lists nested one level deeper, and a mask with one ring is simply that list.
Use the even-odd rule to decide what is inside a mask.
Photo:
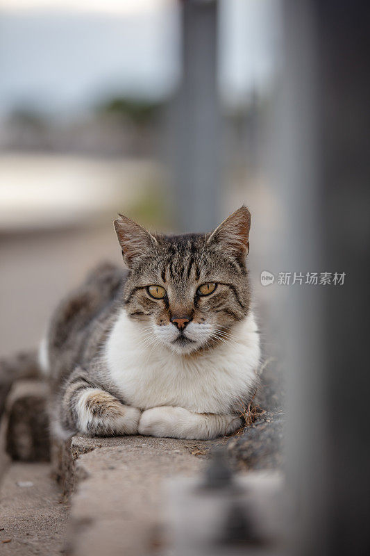
[{"label": "cat's fluffy white chest below its chin", "polygon": [[142,347],[137,323],[122,312],[106,344],[109,380],[124,402],[140,409],[161,405],[198,413],[228,413],[255,384],[260,359],[253,316],[238,325],[233,344],[221,344],[197,357],[166,347]]}]

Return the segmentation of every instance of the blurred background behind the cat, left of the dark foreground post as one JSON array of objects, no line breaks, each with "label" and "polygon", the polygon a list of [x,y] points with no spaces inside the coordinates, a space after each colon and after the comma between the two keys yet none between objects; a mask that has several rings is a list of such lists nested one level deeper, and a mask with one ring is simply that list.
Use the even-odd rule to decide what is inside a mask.
[{"label": "blurred background behind the cat, left of the dark foreground post", "polygon": [[92,265],[121,262],[117,212],[209,231],[247,204],[268,295],[277,7],[1,0],[1,355],[35,346]]}]

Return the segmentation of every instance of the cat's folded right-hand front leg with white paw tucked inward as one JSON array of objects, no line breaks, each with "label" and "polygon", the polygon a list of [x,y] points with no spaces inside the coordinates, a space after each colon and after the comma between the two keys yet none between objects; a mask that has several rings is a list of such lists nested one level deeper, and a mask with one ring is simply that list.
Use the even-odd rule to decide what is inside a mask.
[{"label": "cat's folded right-hand front leg with white paw tucked inward", "polygon": [[242,425],[237,415],[199,414],[183,407],[153,407],[142,413],[139,434],[174,439],[209,440]]}]

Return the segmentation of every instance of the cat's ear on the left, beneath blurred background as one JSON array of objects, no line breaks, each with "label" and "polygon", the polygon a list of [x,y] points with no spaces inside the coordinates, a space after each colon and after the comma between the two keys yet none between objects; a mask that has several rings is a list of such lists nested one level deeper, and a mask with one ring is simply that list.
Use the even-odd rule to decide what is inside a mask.
[{"label": "cat's ear on the left, beneath blurred background", "polygon": [[157,240],[140,224],[137,224],[131,218],[127,218],[127,216],[119,214],[119,218],[114,221],[114,225],[124,262],[128,266],[137,256],[153,252]]}]

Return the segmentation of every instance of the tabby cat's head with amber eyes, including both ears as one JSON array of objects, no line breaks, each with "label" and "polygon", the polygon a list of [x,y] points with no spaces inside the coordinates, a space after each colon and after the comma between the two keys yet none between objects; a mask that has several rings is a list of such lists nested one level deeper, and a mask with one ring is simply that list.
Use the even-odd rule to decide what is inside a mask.
[{"label": "tabby cat's head with amber eyes, including both ears", "polygon": [[230,327],[249,311],[250,223],[245,207],[212,234],[152,235],[126,217],[115,220],[131,270],[126,313],[142,323],[143,345],[189,354],[229,341]]}]

